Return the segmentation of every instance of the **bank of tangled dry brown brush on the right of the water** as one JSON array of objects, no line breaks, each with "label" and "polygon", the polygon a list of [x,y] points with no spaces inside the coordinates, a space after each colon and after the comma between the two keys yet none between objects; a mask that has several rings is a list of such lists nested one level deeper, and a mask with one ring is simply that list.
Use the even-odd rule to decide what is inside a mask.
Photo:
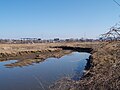
[{"label": "bank of tangled dry brown brush on the right of the water", "polygon": [[92,51],[92,65],[79,81],[64,78],[51,90],[120,90],[120,42],[102,42]]}]

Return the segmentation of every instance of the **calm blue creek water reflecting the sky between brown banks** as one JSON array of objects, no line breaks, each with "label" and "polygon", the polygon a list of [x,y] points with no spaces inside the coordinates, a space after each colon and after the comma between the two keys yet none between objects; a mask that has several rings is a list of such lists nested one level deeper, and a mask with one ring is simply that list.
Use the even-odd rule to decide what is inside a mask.
[{"label": "calm blue creek water reflecting the sky between brown banks", "polygon": [[78,80],[89,55],[73,52],[59,59],[49,58],[41,63],[14,68],[4,65],[16,60],[0,62],[0,90],[49,90],[49,85],[63,77]]}]

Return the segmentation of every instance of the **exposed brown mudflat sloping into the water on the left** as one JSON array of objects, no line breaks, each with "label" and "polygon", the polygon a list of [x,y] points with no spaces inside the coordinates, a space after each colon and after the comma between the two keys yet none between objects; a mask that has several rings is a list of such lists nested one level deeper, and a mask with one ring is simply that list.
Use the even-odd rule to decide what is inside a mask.
[{"label": "exposed brown mudflat sloping into the water on the left", "polygon": [[[70,50],[61,50],[61,49],[47,49],[45,51],[34,51],[27,55],[22,55],[18,57],[11,57],[13,60],[17,60],[15,63],[6,64],[6,67],[22,67],[27,65],[32,65],[33,63],[39,63],[44,61],[47,58],[55,57],[60,58],[66,54],[70,54]],[[7,59],[8,60],[8,59]],[[10,60],[10,59],[9,59]]]}]

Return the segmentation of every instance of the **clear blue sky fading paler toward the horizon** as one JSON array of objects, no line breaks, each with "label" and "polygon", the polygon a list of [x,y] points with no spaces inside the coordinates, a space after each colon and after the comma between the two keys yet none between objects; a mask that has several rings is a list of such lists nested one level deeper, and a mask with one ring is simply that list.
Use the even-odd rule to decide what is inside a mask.
[{"label": "clear blue sky fading paler toward the horizon", "polygon": [[97,38],[119,15],[113,0],[0,0],[0,38]]}]

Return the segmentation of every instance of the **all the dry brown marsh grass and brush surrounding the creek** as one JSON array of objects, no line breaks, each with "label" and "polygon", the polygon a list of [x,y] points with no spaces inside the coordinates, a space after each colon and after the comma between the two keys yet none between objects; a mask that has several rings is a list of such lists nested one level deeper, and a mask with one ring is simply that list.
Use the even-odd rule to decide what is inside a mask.
[{"label": "all the dry brown marsh grass and brush surrounding the creek", "polygon": [[51,86],[51,90],[119,90],[120,89],[120,42],[1,44],[0,60],[17,59],[7,67],[26,66],[49,57],[61,57],[71,51],[52,47],[92,48],[92,66],[79,81],[64,78]]}]

